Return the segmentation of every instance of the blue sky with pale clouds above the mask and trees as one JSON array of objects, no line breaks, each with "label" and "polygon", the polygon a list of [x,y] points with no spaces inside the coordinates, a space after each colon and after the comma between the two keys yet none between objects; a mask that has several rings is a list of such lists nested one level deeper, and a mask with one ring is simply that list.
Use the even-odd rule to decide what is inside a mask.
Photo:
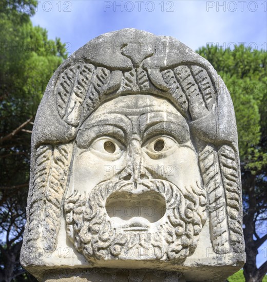
[{"label": "blue sky with pale clouds above the mask and trees", "polygon": [[[266,9],[266,0],[39,0],[32,22],[46,28],[49,39],[61,38],[69,55],[94,37],[122,28],[173,36],[193,50],[243,43],[266,51]],[[266,260],[266,241],[258,251],[259,266]]]}]

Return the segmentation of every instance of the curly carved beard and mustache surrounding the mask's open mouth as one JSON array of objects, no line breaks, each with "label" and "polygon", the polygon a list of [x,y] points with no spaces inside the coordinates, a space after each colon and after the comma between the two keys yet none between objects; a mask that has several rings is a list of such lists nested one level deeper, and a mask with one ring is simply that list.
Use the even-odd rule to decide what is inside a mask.
[{"label": "curly carved beard and mustache surrounding the mask's open mouth", "polygon": [[112,193],[132,193],[134,186],[130,181],[108,180],[87,196],[74,191],[65,199],[67,235],[88,260],[119,258],[181,263],[195,251],[206,221],[206,193],[202,186],[195,183],[181,190],[160,179],[142,180],[141,185],[146,191],[159,193],[166,202],[163,217],[146,230],[126,231],[124,226],[116,227],[105,209]]}]

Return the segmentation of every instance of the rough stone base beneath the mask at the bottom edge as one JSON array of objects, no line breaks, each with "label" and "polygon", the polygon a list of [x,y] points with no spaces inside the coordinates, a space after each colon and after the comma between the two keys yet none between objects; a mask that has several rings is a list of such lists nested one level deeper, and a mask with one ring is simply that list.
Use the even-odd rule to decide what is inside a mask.
[{"label": "rough stone base beneath the mask at the bottom edge", "polygon": [[57,269],[45,273],[45,282],[185,282],[180,272],[140,269]]}]

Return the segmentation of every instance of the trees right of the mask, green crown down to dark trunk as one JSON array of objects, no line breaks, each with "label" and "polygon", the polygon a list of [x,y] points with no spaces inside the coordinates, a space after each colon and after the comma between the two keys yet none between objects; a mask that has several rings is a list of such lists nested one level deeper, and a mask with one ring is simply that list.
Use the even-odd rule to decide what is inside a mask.
[{"label": "trees right of the mask, green crown down to dark trunk", "polygon": [[220,74],[230,91],[237,120],[246,264],[229,281],[261,281],[267,265],[256,267],[257,249],[266,240],[267,219],[267,53],[243,45],[197,51]]}]

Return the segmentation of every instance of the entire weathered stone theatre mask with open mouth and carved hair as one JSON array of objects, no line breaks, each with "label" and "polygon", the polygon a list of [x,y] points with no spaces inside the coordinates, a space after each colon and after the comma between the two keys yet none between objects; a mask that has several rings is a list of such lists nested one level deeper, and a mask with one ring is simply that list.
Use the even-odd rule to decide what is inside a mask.
[{"label": "entire weathered stone theatre mask with open mouth and carved hair", "polygon": [[22,265],[40,281],[223,281],[245,261],[234,108],[204,58],[136,29],[55,71]]}]

